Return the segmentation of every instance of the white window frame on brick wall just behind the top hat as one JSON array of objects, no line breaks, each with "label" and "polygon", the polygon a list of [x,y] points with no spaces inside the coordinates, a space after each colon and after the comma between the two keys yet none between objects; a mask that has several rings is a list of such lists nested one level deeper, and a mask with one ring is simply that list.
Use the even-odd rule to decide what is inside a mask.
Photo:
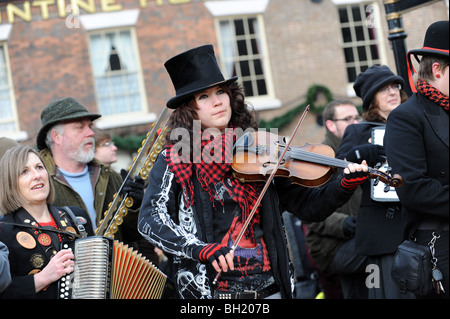
[{"label": "white window frame on brick wall just behind the top hat", "polygon": [[[223,41],[221,37],[220,21],[221,20],[235,20],[243,18],[256,18],[259,29],[259,43],[261,50],[262,68],[264,70],[264,79],[267,89],[266,95],[261,96],[247,96],[246,99],[255,110],[265,110],[281,107],[281,101],[275,96],[275,88],[273,85],[273,77],[270,67],[270,58],[267,48],[267,39],[265,32],[265,23],[263,13],[265,12],[269,0],[221,0],[205,2],[206,8],[215,17],[215,28],[217,31],[219,52],[225,52]],[[226,74],[226,61],[224,56],[219,58],[221,69],[225,77],[230,77]],[[241,79],[239,79],[241,80]],[[238,80],[238,81],[239,81]]]}]

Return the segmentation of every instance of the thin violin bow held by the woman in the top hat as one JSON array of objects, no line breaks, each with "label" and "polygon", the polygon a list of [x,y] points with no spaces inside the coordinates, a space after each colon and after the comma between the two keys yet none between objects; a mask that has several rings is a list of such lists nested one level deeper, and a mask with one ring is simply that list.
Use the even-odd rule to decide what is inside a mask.
[{"label": "thin violin bow held by the woman in the top hat", "polygon": [[[303,111],[303,114],[302,114],[302,116],[300,117],[300,119],[299,119],[297,125],[295,126],[294,131],[292,132],[292,135],[291,135],[291,137],[289,138],[289,141],[287,142],[286,147],[284,148],[283,153],[281,154],[280,158],[278,159],[277,164],[274,166],[272,172],[271,172],[270,175],[269,175],[269,178],[267,179],[266,183],[264,184],[264,188],[262,189],[261,193],[259,194],[258,199],[256,200],[255,205],[253,206],[253,208],[252,208],[250,214],[249,214],[248,217],[247,217],[247,220],[245,221],[244,225],[242,226],[241,231],[240,231],[239,234],[237,235],[236,241],[234,242],[233,246],[231,247],[231,251],[232,251],[232,252],[234,252],[234,251],[236,250],[236,248],[237,248],[239,242],[241,241],[242,237],[244,236],[244,233],[245,233],[245,231],[247,230],[248,225],[250,224],[250,221],[251,221],[252,218],[253,218],[253,215],[255,215],[255,212],[256,212],[256,210],[257,210],[259,204],[261,203],[261,200],[262,200],[262,198],[264,197],[264,194],[266,193],[267,189],[269,188],[269,185],[270,185],[270,183],[272,182],[272,180],[273,180],[273,178],[274,178],[274,176],[275,176],[275,173],[277,172],[278,168],[280,167],[281,161],[283,160],[284,155],[286,155],[286,152],[287,152],[287,150],[289,149],[289,147],[290,147],[290,145],[291,145],[291,142],[292,142],[294,136],[297,134],[297,131],[298,131],[300,125],[302,124],[303,120],[305,119],[306,114],[307,114],[308,111],[309,111],[309,108],[310,108],[310,105],[308,104],[308,105],[306,106],[305,110]],[[216,284],[217,284],[217,280],[220,278],[220,275],[221,275],[221,274],[222,274],[222,270],[219,271],[219,272],[217,273],[216,278],[214,278],[213,285],[216,285]]]}]

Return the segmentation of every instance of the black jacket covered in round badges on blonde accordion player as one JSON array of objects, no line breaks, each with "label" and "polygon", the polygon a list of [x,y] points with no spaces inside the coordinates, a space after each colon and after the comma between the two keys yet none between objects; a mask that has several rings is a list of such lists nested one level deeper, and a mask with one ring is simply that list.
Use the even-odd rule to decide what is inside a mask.
[{"label": "black jacket covered in round badges on blonde accordion player", "polygon": [[[72,227],[78,232],[75,223],[64,210],[54,206],[49,206],[49,208],[50,213],[61,230],[69,231],[70,228],[68,229],[68,227]],[[92,224],[88,214],[79,207],[70,208],[75,216],[81,216],[86,220],[84,227],[87,235],[93,235]],[[58,283],[54,282],[50,284],[48,288],[36,293],[33,275],[36,272],[41,271],[49,263],[51,256],[61,249],[58,234],[50,231],[42,231],[42,233],[49,235],[51,238],[51,243],[49,245],[42,245],[39,241],[40,231],[35,231],[34,229],[23,226],[6,224],[17,223],[30,225],[33,223],[35,221],[34,218],[23,208],[20,208],[12,214],[6,215],[0,221],[5,222],[0,223],[0,241],[8,247],[12,277],[12,283],[0,296],[2,298],[12,299],[56,299]],[[19,232],[30,234],[34,239],[35,245],[24,244],[24,239],[19,239]],[[61,236],[62,239],[69,240],[69,236]],[[28,242],[33,242],[33,240]],[[26,248],[26,246],[29,248]]]}]

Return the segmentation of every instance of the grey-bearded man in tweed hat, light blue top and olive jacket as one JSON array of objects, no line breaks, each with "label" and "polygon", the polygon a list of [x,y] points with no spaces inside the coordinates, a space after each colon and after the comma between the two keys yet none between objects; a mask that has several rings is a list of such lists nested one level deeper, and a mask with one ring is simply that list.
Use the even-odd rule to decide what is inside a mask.
[{"label": "grey-bearded man in tweed hat, light blue top and olive jacket", "polygon": [[[101,117],[73,98],[50,103],[41,113],[42,127],[36,143],[56,190],[55,206],[79,206],[89,212],[94,229],[122,185],[122,177],[94,158],[92,122]],[[133,198],[133,207],[115,234],[115,239],[131,243],[137,232],[144,181],[137,177],[123,187]]]}]

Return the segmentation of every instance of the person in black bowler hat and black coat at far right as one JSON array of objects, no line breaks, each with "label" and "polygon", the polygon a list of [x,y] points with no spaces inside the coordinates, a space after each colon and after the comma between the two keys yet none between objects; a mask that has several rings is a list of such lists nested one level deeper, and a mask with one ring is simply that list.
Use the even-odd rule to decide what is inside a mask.
[{"label": "person in black bowler hat and black coat at far right", "polygon": [[436,240],[436,268],[443,279],[436,280],[436,290],[425,297],[448,298],[449,21],[428,27],[423,47],[408,53],[410,70],[411,56],[419,61],[415,85],[409,74],[415,93],[389,116],[384,145],[392,170],[404,181],[397,189],[404,239],[413,237],[424,245]]}]

